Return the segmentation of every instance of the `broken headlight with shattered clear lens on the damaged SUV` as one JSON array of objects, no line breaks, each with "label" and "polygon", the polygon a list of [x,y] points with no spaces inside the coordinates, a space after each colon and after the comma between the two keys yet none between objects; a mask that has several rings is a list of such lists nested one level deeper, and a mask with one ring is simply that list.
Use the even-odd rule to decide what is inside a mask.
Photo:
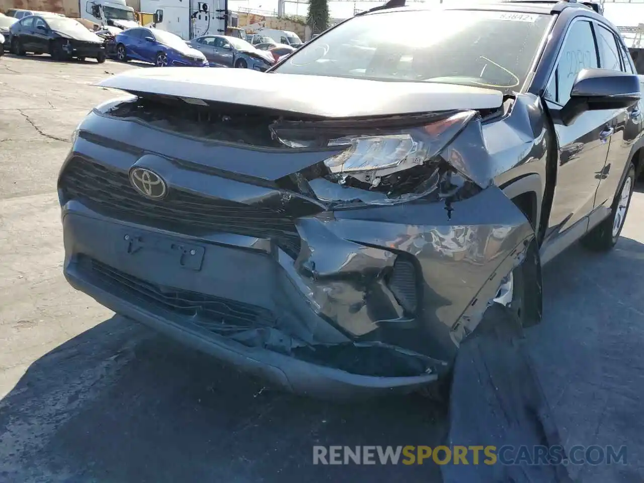
[{"label": "broken headlight with shattered clear lens on the damaged SUV", "polygon": [[[455,172],[439,153],[475,115],[460,111],[418,128],[329,140],[327,146],[346,149],[324,161],[330,172],[326,178],[346,188],[381,194],[369,197],[368,202],[375,204],[424,196]],[[367,201],[365,196],[359,198]]]}]

